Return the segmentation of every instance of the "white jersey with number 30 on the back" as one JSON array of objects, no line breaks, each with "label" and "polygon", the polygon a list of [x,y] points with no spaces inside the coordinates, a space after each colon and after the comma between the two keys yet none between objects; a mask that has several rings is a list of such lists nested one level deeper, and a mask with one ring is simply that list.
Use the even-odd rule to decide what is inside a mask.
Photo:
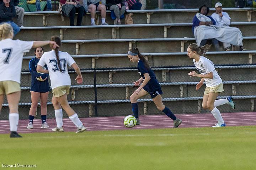
[{"label": "white jersey with number 30 on the back", "polygon": [[59,61],[61,71],[59,71],[55,51],[52,50],[45,52],[37,63],[42,67],[47,65],[52,89],[60,86],[71,86],[68,65],[74,64],[75,60],[68,53],[59,51]]}]

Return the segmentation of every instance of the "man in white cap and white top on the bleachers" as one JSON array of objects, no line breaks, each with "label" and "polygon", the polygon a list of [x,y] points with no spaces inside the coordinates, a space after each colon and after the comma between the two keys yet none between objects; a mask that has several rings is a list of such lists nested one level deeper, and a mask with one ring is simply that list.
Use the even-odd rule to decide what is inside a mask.
[{"label": "man in white cap and white top on the bleachers", "polygon": [[[228,13],[222,11],[222,4],[220,2],[217,2],[215,4],[215,9],[216,9],[216,11],[211,15],[211,17],[215,20],[216,26],[229,27],[229,25],[231,23],[230,22],[231,18],[229,17]],[[241,32],[239,30],[239,28],[235,28],[235,27],[230,27],[230,28],[238,29],[237,32]],[[242,45],[242,41],[238,45],[239,45],[240,51],[246,50]],[[230,51],[231,45],[230,45],[230,43],[223,42],[223,47],[224,47],[225,51]]]}]

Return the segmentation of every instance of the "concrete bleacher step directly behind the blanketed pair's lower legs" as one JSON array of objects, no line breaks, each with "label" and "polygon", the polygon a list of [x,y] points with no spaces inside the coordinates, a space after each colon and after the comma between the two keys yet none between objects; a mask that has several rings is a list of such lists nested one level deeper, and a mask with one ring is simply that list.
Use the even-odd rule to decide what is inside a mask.
[{"label": "concrete bleacher step directly behind the blanketed pair's lower legs", "polygon": [[[142,39],[101,39],[101,40],[62,40],[61,50],[70,55],[89,54],[122,54],[137,46],[143,53],[170,53],[184,52],[191,43],[196,43],[194,38],[142,38]],[[211,41],[208,44],[212,44]],[[243,44],[247,50],[255,50],[256,37],[244,37]],[[220,43],[222,46],[222,43]],[[100,48],[95,48],[100,47]],[[118,48],[117,48],[118,47]],[[44,46],[44,51],[51,50]],[[239,50],[234,46],[234,50]],[[222,48],[224,51],[224,48]],[[214,45],[210,51],[216,51]],[[30,50],[25,56],[34,56],[34,50]]]}]

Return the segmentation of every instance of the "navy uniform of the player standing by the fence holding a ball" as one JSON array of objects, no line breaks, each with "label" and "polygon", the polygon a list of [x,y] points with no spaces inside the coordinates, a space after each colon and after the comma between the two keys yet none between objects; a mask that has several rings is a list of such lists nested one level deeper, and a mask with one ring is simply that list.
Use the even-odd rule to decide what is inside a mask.
[{"label": "navy uniform of the player standing by the fence holding a ball", "polygon": [[[49,88],[49,82],[48,82],[48,74],[44,73],[38,73],[36,71],[37,68],[37,63],[40,59],[38,59],[37,57],[34,57],[33,59],[30,60],[29,62],[29,68],[30,68],[30,73],[31,73],[31,89],[30,91],[34,91],[34,92],[49,92],[50,88]],[[46,70],[48,70],[47,66],[44,66]],[[36,79],[36,77],[42,77],[42,79],[45,79],[47,77],[47,79],[45,81],[38,81]]]}]

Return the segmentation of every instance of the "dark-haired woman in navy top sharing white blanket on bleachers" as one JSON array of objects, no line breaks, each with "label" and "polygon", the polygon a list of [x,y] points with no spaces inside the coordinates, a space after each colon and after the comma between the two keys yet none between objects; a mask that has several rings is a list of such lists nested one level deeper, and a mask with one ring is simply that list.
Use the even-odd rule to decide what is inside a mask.
[{"label": "dark-haired woman in navy top sharing white blanket on bleachers", "polygon": [[[195,16],[194,16],[194,18],[193,18],[193,25],[192,25],[192,31],[193,31],[193,33],[194,33],[194,36],[195,36],[195,38],[196,38],[196,34],[195,34],[195,32],[194,32],[194,29],[196,28],[196,27],[198,27],[198,26],[204,26],[204,27],[210,27],[210,24],[213,24],[213,25],[215,25],[215,21],[214,21],[214,19],[212,18],[212,17],[210,17],[210,16],[207,16],[207,14],[208,14],[208,12],[209,12],[209,7],[208,6],[206,6],[206,5],[203,5],[203,6],[201,6],[200,8],[199,8],[199,11],[198,11],[199,13],[197,13]],[[203,17],[204,16],[204,17]],[[203,18],[207,18],[207,20],[206,19],[203,19]],[[202,20],[202,21],[201,21]],[[200,42],[197,42],[197,45],[198,46],[203,46],[203,45],[205,45],[206,44],[206,42],[207,42],[207,40],[208,39],[211,39],[212,40],[212,43],[214,44],[214,46],[215,46],[215,49],[216,49],[216,51],[219,51],[219,42],[218,42],[218,40],[217,39],[215,39],[215,38],[207,38],[207,39],[202,39]],[[196,40],[197,40],[197,38],[196,38]]]}]

